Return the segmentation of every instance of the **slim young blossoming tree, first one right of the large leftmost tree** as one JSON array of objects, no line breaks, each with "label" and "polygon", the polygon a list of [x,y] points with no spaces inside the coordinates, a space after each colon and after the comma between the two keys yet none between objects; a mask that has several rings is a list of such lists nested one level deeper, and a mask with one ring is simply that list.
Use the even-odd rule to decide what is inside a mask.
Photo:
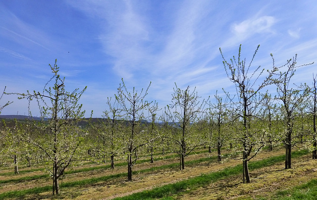
[{"label": "slim young blossoming tree, first one right of the large leftmost tree", "polygon": [[[124,135],[124,143],[126,150],[126,161],[128,162],[128,181],[132,181],[132,166],[138,160],[137,151],[140,147],[148,144],[150,141],[146,140],[145,131],[141,128],[141,121],[144,119],[144,110],[151,103],[144,101],[144,98],[148,94],[149,87],[141,92],[133,87],[132,93],[126,88],[122,79],[122,85],[118,87],[118,94],[115,95],[116,100],[121,106],[123,112],[122,116],[125,115],[125,120],[128,123],[128,129]],[[144,92],[143,92],[144,91]]]}]

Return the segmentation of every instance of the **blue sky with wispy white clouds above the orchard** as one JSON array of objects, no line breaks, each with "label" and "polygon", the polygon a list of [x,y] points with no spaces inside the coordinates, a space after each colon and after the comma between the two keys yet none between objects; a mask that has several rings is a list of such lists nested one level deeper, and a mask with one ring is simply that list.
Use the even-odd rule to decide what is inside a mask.
[{"label": "blue sky with wispy white clouds above the orchard", "polygon": [[[201,100],[222,88],[235,94],[219,47],[252,69],[280,66],[295,54],[298,65],[317,62],[315,0],[0,0],[0,90],[43,91],[57,59],[68,91],[87,86],[80,99],[87,116],[102,117],[106,99],[124,80],[128,89],[151,86],[146,100],[171,103],[175,82]],[[317,65],[298,68],[292,81],[311,83]],[[269,92],[275,92],[270,87]],[[28,102],[1,115],[28,115]],[[32,115],[39,110],[31,107]]]}]

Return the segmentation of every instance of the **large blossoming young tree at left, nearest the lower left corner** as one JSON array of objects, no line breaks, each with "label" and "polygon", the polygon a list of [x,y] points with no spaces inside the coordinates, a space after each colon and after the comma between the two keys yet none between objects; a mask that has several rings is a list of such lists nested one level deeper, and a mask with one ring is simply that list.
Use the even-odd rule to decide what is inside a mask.
[{"label": "large blossoming young tree at left, nearest the lower left corner", "polygon": [[[59,193],[58,179],[72,161],[77,159],[77,151],[82,144],[86,133],[77,126],[82,120],[85,111],[81,111],[82,105],[78,101],[86,90],[86,87],[78,92],[75,89],[68,92],[65,89],[65,78],[58,74],[59,67],[56,64],[49,65],[53,77],[45,84],[43,92],[33,93],[27,91],[20,94],[20,98],[30,101],[35,99],[39,105],[42,121],[33,122],[33,133],[25,135],[24,140],[40,148],[49,158],[53,176],[53,195]],[[53,82],[53,83],[52,83]],[[52,84],[50,86],[50,84]],[[31,115],[31,111],[30,115]],[[34,132],[40,132],[40,137],[34,137]]]}]

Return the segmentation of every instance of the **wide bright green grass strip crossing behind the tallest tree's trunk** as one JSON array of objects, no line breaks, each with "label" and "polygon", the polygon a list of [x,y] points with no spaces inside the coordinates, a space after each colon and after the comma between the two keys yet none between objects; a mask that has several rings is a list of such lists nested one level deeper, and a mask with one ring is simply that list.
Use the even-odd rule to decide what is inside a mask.
[{"label": "wide bright green grass strip crossing behind the tallest tree's trunk", "polygon": [[[295,151],[292,154],[293,158],[298,158],[308,154],[307,150]],[[252,161],[249,163],[250,171],[254,169],[259,169],[265,166],[270,166],[275,163],[281,162],[285,160],[285,155],[274,156],[268,159]],[[164,185],[161,187],[154,188],[152,190],[145,190],[139,193],[134,193],[129,196],[115,198],[114,200],[151,200],[151,199],[160,199],[164,198],[165,200],[173,199],[170,196],[182,193],[185,191],[195,190],[196,188],[203,187],[205,185],[210,184],[211,182],[215,182],[217,180],[229,177],[231,175],[237,175],[242,172],[242,164],[236,165],[234,167],[227,167],[223,170],[211,172],[208,174],[202,174],[200,176],[189,178],[184,181],[179,181],[177,183],[172,183],[168,185]]]}]

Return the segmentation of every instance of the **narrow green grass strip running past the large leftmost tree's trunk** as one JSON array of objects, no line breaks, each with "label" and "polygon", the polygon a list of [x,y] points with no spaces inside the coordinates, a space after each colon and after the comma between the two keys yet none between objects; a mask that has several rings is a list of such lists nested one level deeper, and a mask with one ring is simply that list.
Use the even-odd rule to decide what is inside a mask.
[{"label": "narrow green grass strip running past the large leftmost tree's trunk", "polygon": [[[178,156],[178,155],[176,155],[176,156]],[[216,159],[217,159],[217,157],[213,156],[213,157],[201,158],[201,159],[197,159],[197,160],[186,161],[185,164],[187,166],[190,166],[190,165],[198,164],[200,162],[206,162],[206,161],[213,162]],[[147,160],[147,161],[149,161],[149,160]],[[125,164],[123,164],[123,165],[125,165]],[[170,169],[170,168],[178,168],[178,167],[179,167],[179,163],[171,163],[171,164],[167,164],[167,165],[161,165],[161,166],[156,166],[156,167],[151,167],[151,168],[147,168],[147,169],[133,171],[133,174],[140,174],[140,173],[152,172],[152,171],[160,170],[160,169],[168,169],[168,168]],[[89,167],[89,168],[91,169],[91,167]],[[95,169],[95,167],[92,167],[92,168]],[[88,168],[79,169],[77,172],[79,172],[80,170],[89,171],[87,169]],[[45,176],[47,176],[47,175],[45,175]],[[96,184],[99,182],[104,182],[104,181],[107,181],[110,179],[120,178],[120,177],[124,177],[124,176],[127,176],[127,173],[118,173],[118,174],[95,177],[95,178],[90,178],[90,179],[83,179],[83,180],[79,180],[79,181],[66,182],[66,183],[63,183],[62,185],[60,185],[60,187],[61,188],[69,188],[69,187],[76,187],[76,186],[86,186],[86,185]],[[34,177],[34,176],[32,176],[32,177]],[[25,178],[28,178],[28,177],[25,177]],[[32,180],[34,180],[34,179],[32,179]],[[0,200],[6,199],[9,197],[18,198],[18,197],[23,197],[25,195],[30,195],[30,194],[39,194],[39,193],[43,193],[43,192],[49,192],[51,190],[52,190],[51,186],[49,186],[49,187],[45,186],[45,187],[37,187],[34,189],[10,191],[10,192],[5,192],[5,193],[0,194]]]}]

